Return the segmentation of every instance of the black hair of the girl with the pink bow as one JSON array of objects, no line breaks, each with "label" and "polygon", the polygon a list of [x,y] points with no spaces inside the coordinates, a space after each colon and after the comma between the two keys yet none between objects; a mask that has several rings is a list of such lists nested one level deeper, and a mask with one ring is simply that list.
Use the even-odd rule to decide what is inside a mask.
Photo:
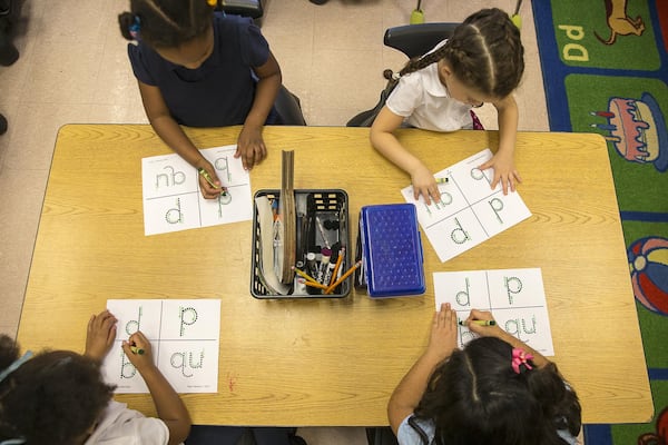
[{"label": "black hair of the girl with the pink bow", "polygon": [[564,429],[578,435],[581,407],[552,363],[512,368],[513,347],[495,337],[471,340],[439,365],[409,425],[432,421],[435,443],[452,445],[563,445]]}]

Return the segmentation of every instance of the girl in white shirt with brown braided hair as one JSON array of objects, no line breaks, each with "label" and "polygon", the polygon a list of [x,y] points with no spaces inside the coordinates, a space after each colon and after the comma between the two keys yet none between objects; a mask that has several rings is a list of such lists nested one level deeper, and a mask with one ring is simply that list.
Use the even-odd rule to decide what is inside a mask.
[{"label": "girl in white shirt with brown braided hair", "polygon": [[439,188],[430,169],[393,131],[402,125],[432,131],[482,128],[471,109],[484,102],[498,111],[499,148],[480,169],[493,168],[492,188],[501,181],[504,194],[521,182],[513,161],[518,107],[512,91],[524,71],[523,52],[520,32],[508,14],[483,9],[399,73],[386,72],[397,85],[371,127],[371,142],[411,176],[415,199],[439,201]]}]

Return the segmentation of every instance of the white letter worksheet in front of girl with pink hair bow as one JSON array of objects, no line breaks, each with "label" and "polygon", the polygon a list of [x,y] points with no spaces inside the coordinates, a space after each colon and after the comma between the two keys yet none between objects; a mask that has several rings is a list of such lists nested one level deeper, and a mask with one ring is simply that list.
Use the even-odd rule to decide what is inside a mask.
[{"label": "white letter worksheet in front of girl with pink hair bow", "polygon": [[[499,326],[544,356],[554,355],[539,268],[434,273],[436,310],[450,303],[460,320],[471,309],[490,310]],[[477,335],[459,327],[460,347]]]}]

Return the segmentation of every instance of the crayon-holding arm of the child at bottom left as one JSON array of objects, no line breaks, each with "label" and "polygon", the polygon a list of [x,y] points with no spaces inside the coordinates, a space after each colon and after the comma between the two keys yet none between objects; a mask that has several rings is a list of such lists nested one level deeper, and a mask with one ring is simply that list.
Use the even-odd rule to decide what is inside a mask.
[{"label": "crayon-holding arm of the child at bottom left", "polygon": [[[144,354],[132,353],[130,346],[144,349]],[[180,444],[190,432],[190,415],[176,390],[154,364],[150,342],[144,334],[137,332],[130,336],[128,342],[122,343],[122,350],[148,386],[158,417],[169,429],[168,444]]]}]

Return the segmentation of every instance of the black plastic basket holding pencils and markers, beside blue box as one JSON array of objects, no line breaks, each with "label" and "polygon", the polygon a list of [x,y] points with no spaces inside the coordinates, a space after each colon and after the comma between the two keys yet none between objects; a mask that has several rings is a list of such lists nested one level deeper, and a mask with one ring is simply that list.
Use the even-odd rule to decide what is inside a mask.
[{"label": "black plastic basket holding pencils and markers, beside blue box", "polygon": [[344,298],[352,288],[348,198],[341,189],[297,189],[294,279],[276,271],[282,247],[281,190],[258,190],[253,204],[250,294],[255,298]]}]

